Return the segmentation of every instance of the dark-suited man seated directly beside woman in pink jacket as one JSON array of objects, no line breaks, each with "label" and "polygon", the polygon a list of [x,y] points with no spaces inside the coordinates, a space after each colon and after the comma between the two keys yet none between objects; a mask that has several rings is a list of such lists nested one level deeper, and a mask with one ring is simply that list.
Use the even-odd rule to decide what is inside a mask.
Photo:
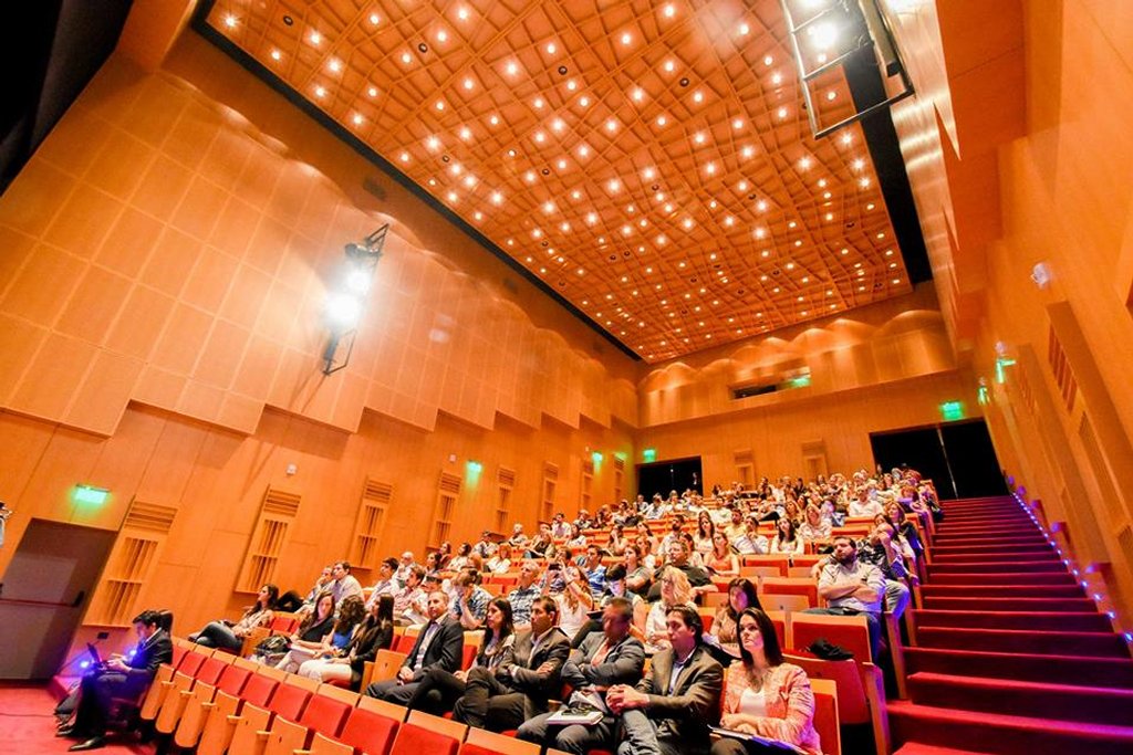
[{"label": "dark-suited man seated directly beside woman in pink jacket", "polygon": [[621,715],[617,755],[707,753],[708,727],[719,720],[723,667],[701,642],[696,609],[676,606],[665,617],[672,647],[653,657],[649,675],[637,687],[620,685],[606,694]]}]

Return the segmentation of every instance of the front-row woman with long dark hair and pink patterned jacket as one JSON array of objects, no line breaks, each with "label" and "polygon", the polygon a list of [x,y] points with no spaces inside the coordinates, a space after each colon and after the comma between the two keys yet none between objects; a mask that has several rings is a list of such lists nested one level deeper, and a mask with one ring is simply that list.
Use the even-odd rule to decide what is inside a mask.
[{"label": "front-row woman with long dark hair and pink patterned jacket", "polygon": [[[783,662],[775,625],[767,614],[749,608],[740,615],[740,655],[725,675],[719,724],[727,731],[785,743],[808,755],[820,755],[815,731],[815,695],[807,672]],[[782,752],[773,743],[722,737],[712,755]]]}]

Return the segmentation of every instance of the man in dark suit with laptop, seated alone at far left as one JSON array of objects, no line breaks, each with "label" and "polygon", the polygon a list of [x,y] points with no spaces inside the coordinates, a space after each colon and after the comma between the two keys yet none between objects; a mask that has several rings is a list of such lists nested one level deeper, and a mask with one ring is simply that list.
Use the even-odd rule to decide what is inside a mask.
[{"label": "man in dark suit with laptop, seated alone at far left", "polygon": [[97,749],[107,744],[107,718],[114,697],[137,697],[153,681],[157,667],[173,660],[173,643],[161,628],[159,611],[134,618],[138,644],[125,657],[114,657],[83,677],[75,722],[59,729],[60,737],[83,739],[70,752]]}]

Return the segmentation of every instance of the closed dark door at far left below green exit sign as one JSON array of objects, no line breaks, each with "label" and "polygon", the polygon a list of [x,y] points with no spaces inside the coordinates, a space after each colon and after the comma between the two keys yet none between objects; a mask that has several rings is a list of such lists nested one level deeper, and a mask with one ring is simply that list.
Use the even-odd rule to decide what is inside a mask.
[{"label": "closed dark door at far left below green exit sign", "polygon": [[3,575],[0,679],[59,671],[117,534],[32,520]]}]

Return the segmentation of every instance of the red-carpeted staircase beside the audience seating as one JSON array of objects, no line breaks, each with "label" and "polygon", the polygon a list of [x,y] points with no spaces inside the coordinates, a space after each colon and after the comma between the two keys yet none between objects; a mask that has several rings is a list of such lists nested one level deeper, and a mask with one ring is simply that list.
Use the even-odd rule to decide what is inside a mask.
[{"label": "red-carpeted staircase beside the audience seating", "polygon": [[898,755],[1133,753],[1124,638],[1013,498],[944,504],[911,609]]}]

